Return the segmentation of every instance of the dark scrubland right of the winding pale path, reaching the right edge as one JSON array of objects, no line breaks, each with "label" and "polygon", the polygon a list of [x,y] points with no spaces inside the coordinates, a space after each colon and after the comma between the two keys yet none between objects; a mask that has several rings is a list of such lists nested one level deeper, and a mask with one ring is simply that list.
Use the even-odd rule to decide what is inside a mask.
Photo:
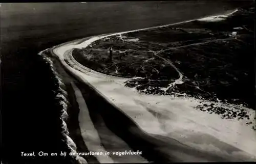
[{"label": "dark scrubland right of the winding pale path, reaching the right edge", "polygon": [[[190,79],[182,86],[193,86],[191,83],[196,83],[201,90],[216,95],[221,100],[246,103],[245,105],[254,108],[253,16],[254,7],[250,6],[239,9],[220,22],[191,22],[191,29],[202,26],[210,29],[214,35],[237,32],[238,36],[230,40],[169,50],[161,55],[170,60],[182,61],[177,67]],[[237,27],[241,29],[234,29]],[[177,88],[183,88],[182,86],[177,85]],[[207,97],[207,93],[200,96]]]}]

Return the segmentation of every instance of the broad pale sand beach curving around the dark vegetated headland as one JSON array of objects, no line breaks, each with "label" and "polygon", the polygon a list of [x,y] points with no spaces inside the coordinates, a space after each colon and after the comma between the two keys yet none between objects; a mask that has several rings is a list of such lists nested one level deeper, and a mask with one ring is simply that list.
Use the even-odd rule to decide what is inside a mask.
[{"label": "broad pale sand beach curving around the dark vegetated headland", "polygon": [[[189,21],[193,20],[184,22]],[[147,29],[151,28],[135,31]],[[124,115],[131,118],[141,130],[148,134],[158,135],[157,139],[166,145],[168,145],[168,138],[175,139],[195,150],[226,158],[227,161],[255,161],[256,132],[246,125],[246,121],[226,120],[219,115],[197,111],[195,107],[201,102],[198,99],[139,94],[131,88],[124,87],[125,79],[93,71],[78,64],[72,58],[73,48],[85,48],[98,39],[135,31],[95,36],[78,44],[77,42],[62,44],[53,48],[53,52],[58,56],[62,65],[76,78],[94,88]],[[220,103],[220,105],[228,104]],[[255,111],[243,108],[250,114],[249,121],[253,122]],[[161,149],[164,149],[163,145],[159,146],[159,150]],[[176,151],[165,153],[178,156]],[[193,161],[193,159],[211,161],[210,158],[191,157],[190,152],[183,155],[187,156],[186,161]]]}]

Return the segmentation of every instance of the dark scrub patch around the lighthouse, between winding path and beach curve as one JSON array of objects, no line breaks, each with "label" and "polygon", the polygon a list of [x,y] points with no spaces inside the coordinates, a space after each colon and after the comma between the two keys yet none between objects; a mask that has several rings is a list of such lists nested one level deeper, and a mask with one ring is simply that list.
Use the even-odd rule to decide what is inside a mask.
[{"label": "dark scrub patch around the lighthouse, between winding path and beach curve", "polygon": [[[114,44],[115,41],[111,42]],[[120,47],[122,48],[121,45]],[[121,51],[121,48],[113,46],[115,50]],[[152,52],[136,49],[125,52],[114,52],[113,61],[109,59],[108,49],[74,49],[72,54],[82,65],[105,74],[146,79],[178,78],[176,70],[165,61],[149,60],[153,57]],[[148,62],[144,62],[145,60]]]}]

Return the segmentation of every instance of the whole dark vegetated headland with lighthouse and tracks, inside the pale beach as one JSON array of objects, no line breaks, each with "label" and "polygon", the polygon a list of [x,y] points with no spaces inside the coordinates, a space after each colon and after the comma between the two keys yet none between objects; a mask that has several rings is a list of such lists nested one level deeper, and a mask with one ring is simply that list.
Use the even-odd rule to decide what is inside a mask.
[{"label": "whole dark vegetated headland with lighthouse and tracks, inside the pale beach", "polygon": [[222,21],[115,35],[75,49],[73,57],[98,72],[130,77],[125,86],[141,93],[254,108],[253,16],[254,8],[247,7]]}]

